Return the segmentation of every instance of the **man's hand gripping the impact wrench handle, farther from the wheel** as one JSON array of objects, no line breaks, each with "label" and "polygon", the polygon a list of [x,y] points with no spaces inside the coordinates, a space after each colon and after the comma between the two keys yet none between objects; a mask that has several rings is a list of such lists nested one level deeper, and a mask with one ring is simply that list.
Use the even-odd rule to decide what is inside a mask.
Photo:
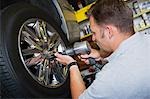
[{"label": "man's hand gripping the impact wrench handle, farther from the wheel", "polygon": [[96,61],[99,61],[102,59],[102,57],[100,56],[99,50],[96,50],[96,49],[91,49],[91,53],[89,55],[88,54],[80,55],[79,59],[81,59],[81,61],[84,61],[86,64],[89,64],[88,58],[90,57],[94,58]]}]

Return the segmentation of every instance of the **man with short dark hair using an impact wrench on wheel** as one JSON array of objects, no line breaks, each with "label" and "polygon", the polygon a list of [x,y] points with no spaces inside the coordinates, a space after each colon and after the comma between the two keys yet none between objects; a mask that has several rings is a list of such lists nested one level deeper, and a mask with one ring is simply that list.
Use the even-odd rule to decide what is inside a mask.
[{"label": "man with short dark hair using an impact wrench on wheel", "polygon": [[[134,33],[132,10],[121,0],[97,0],[90,12],[92,40],[112,54],[87,89],[78,66],[72,64],[72,98],[150,99],[150,34]],[[67,55],[55,56],[65,65],[76,62]],[[81,60],[87,62],[88,57],[102,58],[94,49]]]}]

